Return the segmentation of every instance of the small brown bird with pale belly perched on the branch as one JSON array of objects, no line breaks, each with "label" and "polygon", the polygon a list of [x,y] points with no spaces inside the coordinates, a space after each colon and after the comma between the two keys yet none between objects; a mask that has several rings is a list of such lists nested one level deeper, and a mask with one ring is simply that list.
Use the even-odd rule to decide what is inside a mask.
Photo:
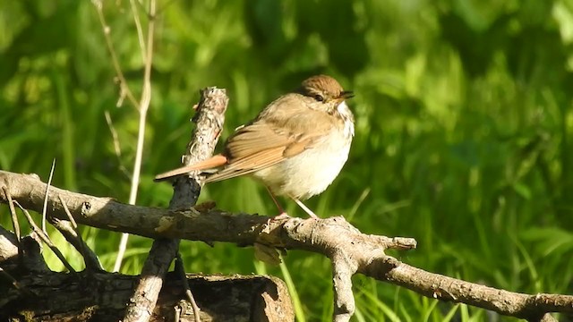
[{"label": "small brown bird with pale belly perched on the branch", "polygon": [[353,96],[337,80],[313,76],[237,128],[223,153],[158,174],[155,180],[197,170],[211,173],[205,182],[250,174],[265,184],[283,214],[273,194],[295,200],[316,217],[300,200],[325,191],[346,163],[355,126],[345,99]]}]

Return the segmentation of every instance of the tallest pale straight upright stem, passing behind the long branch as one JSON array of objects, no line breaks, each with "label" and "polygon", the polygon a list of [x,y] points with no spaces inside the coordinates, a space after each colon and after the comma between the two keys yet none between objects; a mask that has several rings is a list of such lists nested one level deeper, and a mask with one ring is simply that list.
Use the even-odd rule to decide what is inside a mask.
[{"label": "tallest pale straight upright stem, passing behind the long branch", "polygon": [[[140,184],[141,175],[141,159],[143,156],[143,142],[145,141],[145,123],[147,119],[147,111],[150,107],[151,101],[151,65],[153,62],[153,39],[155,31],[155,12],[156,12],[156,2],[155,0],[150,0],[150,21],[148,22],[147,29],[147,44],[141,43],[141,56],[143,57],[143,62],[145,64],[145,70],[143,72],[143,90],[141,91],[141,101],[139,104],[140,121],[139,121],[139,131],[137,135],[137,148],[135,150],[135,161],[133,164],[133,175],[132,175],[132,188],[129,196],[129,204],[134,205],[137,199],[137,191]],[[140,41],[142,38],[140,39]],[[144,50],[145,49],[145,50]],[[119,271],[122,265],[122,260],[124,259],[125,248],[127,247],[127,240],[129,235],[122,234],[121,241],[117,250],[117,257],[115,258],[114,271]]]}]

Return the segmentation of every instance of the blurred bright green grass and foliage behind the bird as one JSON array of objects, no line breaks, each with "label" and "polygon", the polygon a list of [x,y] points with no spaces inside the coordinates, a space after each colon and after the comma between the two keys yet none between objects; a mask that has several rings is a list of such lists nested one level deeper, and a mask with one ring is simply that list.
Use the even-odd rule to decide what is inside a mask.
[{"label": "blurred bright green grass and foliage behind the bird", "polygon": [[[94,5],[0,0],[0,8],[0,168],[46,181],[56,158],[54,185],[127,201],[138,114],[127,101],[116,107]],[[104,1],[104,13],[140,97],[130,4]],[[227,89],[225,138],[305,77],[328,73],[355,91],[356,136],[342,174],[309,207],[345,215],[363,233],[414,237],[417,250],[392,255],[416,267],[509,291],[570,293],[572,44],[571,0],[158,1],[137,204],[167,207],[171,187],[152,178],[179,164],[199,89]],[[249,179],[213,183],[201,199],[276,215]],[[11,227],[7,214],[0,208]],[[111,269],[119,234],[82,234]],[[151,242],[130,238],[124,273],[139,273]],[[182,252],[188,272],[278,275],[292,283],[299,320],[330,319],[330,267],[321,256],[290,251],[286,265],[269,267],[231,244],[183,242]],[[363,276],[354,283],[355,321],[515,320]]]}]

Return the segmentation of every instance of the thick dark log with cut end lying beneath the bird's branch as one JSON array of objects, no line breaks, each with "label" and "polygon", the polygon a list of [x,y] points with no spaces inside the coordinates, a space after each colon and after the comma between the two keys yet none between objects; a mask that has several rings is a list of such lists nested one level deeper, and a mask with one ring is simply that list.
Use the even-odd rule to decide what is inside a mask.
[{"label": "thick dark log with cut end lying beneath the bird's branch", "polygon": [[[25,258],[19,258],[16,245],[14,234],[0,227],[1,321],[118,321],[124,317],[124,303],[133,294],[138,276],[94,270],[76,274],[52,272],[46,267],[37,240],[30,236],[21,239]],[[19,262],[25,265],[18,265]],[[196,320],[192,305],[184,301],[182,284],[190,284],[198,295],[198,305],[204,308],[203,321],[294,319],[286,284],[276,277],[179,277],[168,274],[158,304],[150,312],[154,321]]]}]

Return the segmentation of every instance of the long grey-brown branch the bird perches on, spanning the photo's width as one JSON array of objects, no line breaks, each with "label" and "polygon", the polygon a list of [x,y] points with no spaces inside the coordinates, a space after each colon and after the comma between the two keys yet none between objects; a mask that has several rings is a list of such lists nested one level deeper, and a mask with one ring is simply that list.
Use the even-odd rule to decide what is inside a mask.
[{"label": "long grey-brown branch the bird perches on, spanning the photo's width", "polygon": [[[41,211],[46,187],[37,176],[0,171],[0,189],[3,186],[22,206]],[[573,313],[573,296],[507,292],[410,267],[385,255],[382,250],[411,249],[415,247],[413,240],[363,234],[342,217],[269,221],[267,216],[231,214],[216,209],[177,212],[129,206],[112,199],[63,191],[56,187],[52,187],[51,191],[48,215],[66,218],[58,199],[58,195],[62,195],[73,217],[83,225],[151,238],[235,242],[242,246],[259,242],[278,248],[310,250],[326,256],[332,256],[337,250],[356,263],[359,273],[404,286],[428,297],[463,302],[530,320],[542,317],[545,312]],[[0,201],[6,202],[5,199]]]}]

